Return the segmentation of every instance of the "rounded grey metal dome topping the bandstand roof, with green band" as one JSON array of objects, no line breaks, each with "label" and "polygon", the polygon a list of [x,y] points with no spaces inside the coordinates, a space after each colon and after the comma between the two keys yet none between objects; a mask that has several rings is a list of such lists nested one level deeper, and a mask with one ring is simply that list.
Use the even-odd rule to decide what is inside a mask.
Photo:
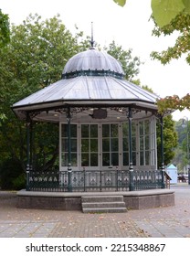
[{"label": "rounded grey metal dome topping the bandstand roof, with green band", "polygon": [[121,63],[110,54],[90,48],[73,56],[62,72],[62,79],[81,75],[111,76],[122,79],[124,72]]}]

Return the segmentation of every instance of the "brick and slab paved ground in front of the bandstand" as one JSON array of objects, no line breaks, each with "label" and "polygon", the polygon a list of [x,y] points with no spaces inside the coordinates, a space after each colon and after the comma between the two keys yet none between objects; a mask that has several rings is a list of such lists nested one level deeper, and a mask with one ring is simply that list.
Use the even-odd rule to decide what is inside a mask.
[{"label": "brick and slab paved ground in front of the bandstand", "polygon": [[106,214],[16,208],[0,191],[0,238],[190,238],[190,185],[171,188],[174,207]]}]

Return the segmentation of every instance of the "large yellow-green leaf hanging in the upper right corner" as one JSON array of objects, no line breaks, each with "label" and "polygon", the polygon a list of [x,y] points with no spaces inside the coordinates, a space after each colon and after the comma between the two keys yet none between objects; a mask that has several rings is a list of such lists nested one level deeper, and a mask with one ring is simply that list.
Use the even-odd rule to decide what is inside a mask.
[{"label": "large yellow-green leaf hanging in the upper right corner", "polygon": [[[153,17],[159,27],[168,25],[172,19],[185,9],[186,0],[152,0]],[[189,4],[188,4],[189,5]]]}]

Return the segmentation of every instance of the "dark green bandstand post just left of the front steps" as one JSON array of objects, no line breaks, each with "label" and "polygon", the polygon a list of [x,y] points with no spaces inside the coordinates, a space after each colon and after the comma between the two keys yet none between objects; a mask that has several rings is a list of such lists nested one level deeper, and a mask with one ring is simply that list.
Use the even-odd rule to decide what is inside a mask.
[{"label": "dark green bandstand post just left of the front steps", "polygon": [[68,120],[68,191],[72,192],[72,167],[71,167],[71,132],[70,132],[70,107],[68,108],[68,115],[67,115],[67,120]]}]

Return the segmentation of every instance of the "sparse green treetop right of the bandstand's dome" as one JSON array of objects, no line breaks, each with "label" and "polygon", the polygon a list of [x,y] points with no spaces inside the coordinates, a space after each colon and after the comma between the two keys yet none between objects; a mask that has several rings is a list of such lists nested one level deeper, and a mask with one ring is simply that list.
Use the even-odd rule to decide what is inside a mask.
[{"label": "sparse green treetop right of the bandstand's dome", "polygon": [[139,66],[142,64],[142,62],[138,57],[132,58],[131,48],[124,50],[113,40],[109,47],[104,49],[106,49],[112,57],[121,62],[126,80],[132,80],[134,76],[139,74]]}]

